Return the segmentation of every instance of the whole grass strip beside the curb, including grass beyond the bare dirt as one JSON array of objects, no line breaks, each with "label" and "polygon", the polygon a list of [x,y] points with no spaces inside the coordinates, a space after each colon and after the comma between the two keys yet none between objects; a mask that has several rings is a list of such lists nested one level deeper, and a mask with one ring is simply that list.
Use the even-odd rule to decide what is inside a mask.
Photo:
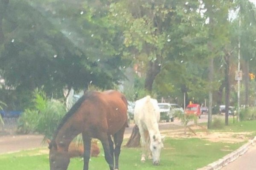
[{"label": "whole grass strip beside the curb, including grass beyond the bare dirt", "polygon": [[[224,119],[218,120],[218,123],[224,125]],[[235,122],[234,124],[230,120],[228,126],[222,128],[214,128],[203,132],[205,136],[211,133],[232,133],[233,138],[236,139],[236,133],[245,133],[247,139],[252,139],[256,136],[256,121],[248,120],[242,122]],[[193,125],[195,126],[195,125]],[[200,126],[206,126],[200,124]],[[242,142],[225,142],[218,141],[213,142],[207,139],[198,137],[198,133],[202,133],[201,129],[195,130],[195,134],[188,130],[188,135],[185,136],[183,133],[179,137],[170,137],[168,132],[164,141],[164,149],[161,152],[161,162],[159,167],[152,165],[151,160],[147,160],[145,163],[140,162],[141,148],[127,148],[122,147],[120,156],[120,169],[122,170],[196,170],[197,168],[204,167],[207,164],[216,161],[223,156],[231,153],[233,150],[238,149],[247,140]],[[125,144],[127,139],[123,142]],[[99,157],[92,157],[89,163],[91,170],[108,169],[108,165],[104,158],[104,153],[101,144],[101,153]],[[205,152],[207,150],[207,152]],[[38,148],[35,150],[21,151],[17,153],[9,153],[0,155],[0,169],[8,170],[45,170],[49,169],[49,154],[48,148]],[[6,164],[9,162],[9,164]],[[184,163],[186,162],[186,163]],[[71,159],[69,169],[82,169],[83,161],[82,158]]]}]

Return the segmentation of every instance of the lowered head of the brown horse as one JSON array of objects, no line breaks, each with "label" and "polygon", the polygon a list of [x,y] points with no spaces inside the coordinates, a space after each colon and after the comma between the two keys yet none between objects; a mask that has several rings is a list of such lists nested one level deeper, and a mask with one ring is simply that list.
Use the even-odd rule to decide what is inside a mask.
[{"label": "lowered head of the brown horse", "polygon": [[67,170],[70,156],[67,151],[61,150],[55,141],[47,140],[49,144],[50,170]]}]

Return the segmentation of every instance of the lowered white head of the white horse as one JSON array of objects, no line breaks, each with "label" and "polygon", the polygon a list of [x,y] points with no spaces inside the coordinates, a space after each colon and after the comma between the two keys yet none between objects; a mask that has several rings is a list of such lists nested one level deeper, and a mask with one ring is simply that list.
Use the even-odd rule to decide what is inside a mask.
[{"label": "lowered white head of the white horse", "polygon": [[150,140],[150,150],[152,152],[154,165],[160,164],[160,153],[161,153],[161,149],[163,148],[162,140],[164,138],[165,136],[154,135],[153,139]]}]

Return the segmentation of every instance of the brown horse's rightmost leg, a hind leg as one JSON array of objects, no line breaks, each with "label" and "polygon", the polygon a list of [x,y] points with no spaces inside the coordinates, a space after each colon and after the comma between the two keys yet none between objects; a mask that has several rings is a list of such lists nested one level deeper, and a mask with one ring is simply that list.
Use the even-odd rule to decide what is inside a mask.
[{"label": "brown horse's rightmost leg, a hind leg", "polygon": [[119,169],[119,155],[120,155],[120,152],[121,152],[121,145],[122,145],[122,142],[123,142],[123,139],[124,139],[125,127],[126,127],[126,125],[114,135],[115,170]]}]

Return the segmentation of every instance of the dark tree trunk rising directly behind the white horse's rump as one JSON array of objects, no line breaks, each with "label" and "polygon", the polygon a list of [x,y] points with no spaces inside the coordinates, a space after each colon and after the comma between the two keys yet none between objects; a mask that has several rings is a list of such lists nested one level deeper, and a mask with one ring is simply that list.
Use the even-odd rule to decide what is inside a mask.
[{"label": "dark tree trunk rising directly behind the white horse's rump", "polygon": [[160,73],[161,65],[156,61],[150,61],[148,64],[148,70],[146,73],[146,79],[145,79],[145,89],[149,92],[152,91],[152,86],[154,79],[156,78],[157,74]]}]

